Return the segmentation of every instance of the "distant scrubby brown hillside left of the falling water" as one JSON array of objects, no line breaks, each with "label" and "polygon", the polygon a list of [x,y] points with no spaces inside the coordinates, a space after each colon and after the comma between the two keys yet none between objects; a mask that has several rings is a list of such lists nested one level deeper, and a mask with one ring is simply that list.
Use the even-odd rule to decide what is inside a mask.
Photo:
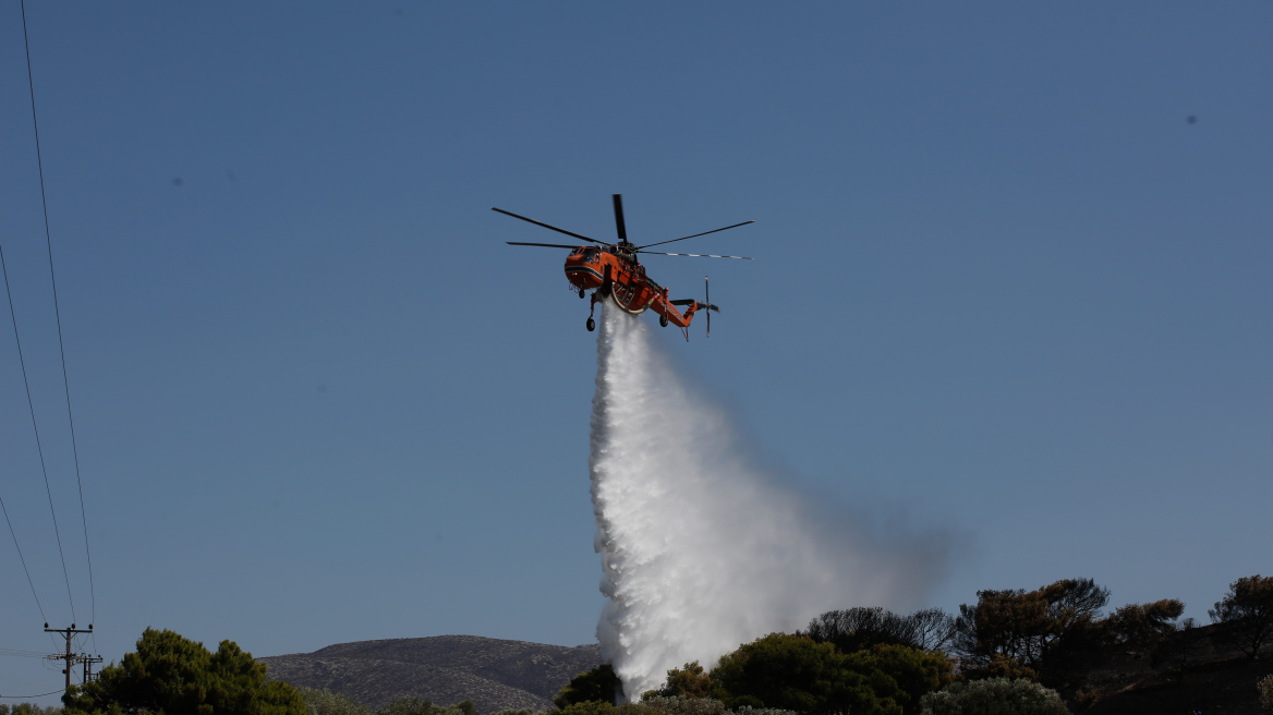
[{"label": "distant scrubby brown hillside left of the falling water", "polygon": [[601,663],[601,646],[434,636],[341,642],[258,660],[271,679],[328,688],[372,707],[407,696],[435,705],[472,700],[479,712],[495,712],[551,707],[570,678]]}]

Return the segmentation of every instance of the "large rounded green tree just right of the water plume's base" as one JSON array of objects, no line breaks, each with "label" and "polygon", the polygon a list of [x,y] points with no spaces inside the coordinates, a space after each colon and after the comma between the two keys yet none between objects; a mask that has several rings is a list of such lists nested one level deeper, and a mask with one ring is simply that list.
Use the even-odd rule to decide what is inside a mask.
[{"label": "large rounded green tree just right of the water plume's base", "polygon": [[[897,683],[863,674],[829,642],[770,634],[723,656],[712,670],[713,697],[728,707],[780,707],[803,715],[900,715]],[[861,665],[861,664],[858,664]]]}]

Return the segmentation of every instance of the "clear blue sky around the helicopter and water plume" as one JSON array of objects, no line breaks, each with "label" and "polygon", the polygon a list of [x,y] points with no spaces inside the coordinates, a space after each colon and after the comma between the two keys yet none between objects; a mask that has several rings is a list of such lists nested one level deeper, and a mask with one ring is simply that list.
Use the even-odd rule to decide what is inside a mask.
[{"label": "clear blue sky around the helicopter and water plume", "polygon": [[[596,369],[556,234],[712,274],[667,331],[778,472],[959,534],[943,585],[1206,608],[1269,573],[1268,3],[27,8],[97,650],[591,641]],[[17,3],[0,214],[90,606]],[[1194,117],[1193,122],[1188,117]],[[179,179],[179,182],[177,181]],[[648,239],[648,240],[647,240]],[[10,327],[4,328],[9,335]],[[11,336],[3,494],[71,620]],[[11,543],[5,648],[52,648]],[[845,604],[852,606],[852,604]],[[60,673],[5,658],[0,695]]]}]

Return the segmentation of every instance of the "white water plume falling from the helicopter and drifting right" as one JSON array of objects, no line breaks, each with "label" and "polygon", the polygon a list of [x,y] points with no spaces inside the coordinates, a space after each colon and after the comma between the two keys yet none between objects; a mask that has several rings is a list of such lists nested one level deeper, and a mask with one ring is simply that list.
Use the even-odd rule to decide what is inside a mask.
[{"label": "white water plume falling from the helicopter and drifting right", "polygon": [[886,546],[849,510],[827,517],[749,461],[724,410],[687,388],[643,321],[607,303],[600,327],[589,468],[608,602],[597,637],[628,698],[825,611],[923,598],[939,546]]}]

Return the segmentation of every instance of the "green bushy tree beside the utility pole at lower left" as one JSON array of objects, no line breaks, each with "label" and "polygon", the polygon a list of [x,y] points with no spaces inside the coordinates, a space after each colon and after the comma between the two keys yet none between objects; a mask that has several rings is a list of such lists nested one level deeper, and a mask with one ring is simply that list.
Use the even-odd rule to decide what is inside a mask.
[{"label": "green bushy tree beside the utility pole at lower left", "polygon": [[73,686],[66,715],[306,715],[288,683],[266,681],[265,665],[232,641],[216,653],[172,631],[146,628],[137,650],[102,669],[98,679]]}]

